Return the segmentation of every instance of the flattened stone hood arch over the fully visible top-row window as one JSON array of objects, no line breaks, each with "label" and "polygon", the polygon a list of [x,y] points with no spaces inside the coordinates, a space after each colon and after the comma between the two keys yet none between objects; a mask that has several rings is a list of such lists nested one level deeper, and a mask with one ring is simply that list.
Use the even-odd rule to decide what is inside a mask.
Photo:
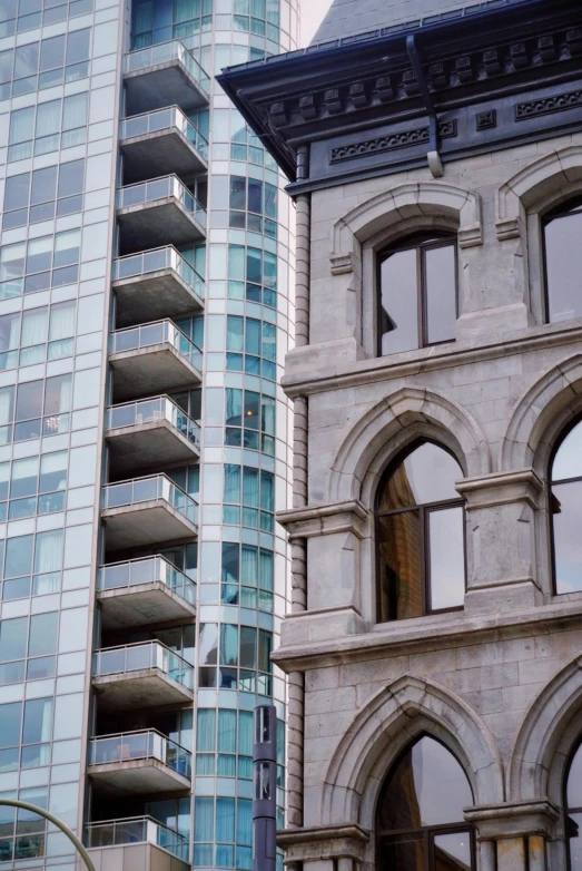
[{"label": "flattened stone hood arch over the fully visible top-row window", "polygon": [[332,272],[359,270],[363,242],[411,218],[452,218],[458,226],[458,244],[483,243],[479,194],[444,182],[406,182],[361,203],[336,221],[332,229]]}]

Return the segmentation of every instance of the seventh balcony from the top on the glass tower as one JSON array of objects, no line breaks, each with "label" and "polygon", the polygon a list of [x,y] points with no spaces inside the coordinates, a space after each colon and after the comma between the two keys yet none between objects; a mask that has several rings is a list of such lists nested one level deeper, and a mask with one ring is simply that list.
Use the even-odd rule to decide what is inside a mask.
[{"label": "seventh balcony from the top on the glass tower", "polygon": [[107,485],[101,517],[109,550],[198,535],[198,503],[165,474]]}]

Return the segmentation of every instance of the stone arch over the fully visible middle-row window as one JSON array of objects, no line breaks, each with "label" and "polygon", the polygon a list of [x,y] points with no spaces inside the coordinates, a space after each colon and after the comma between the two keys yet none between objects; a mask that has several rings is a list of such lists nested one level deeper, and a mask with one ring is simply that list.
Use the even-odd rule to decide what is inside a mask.
[{"label": "stone arch over the fully visible middle-row window", "polygon": [[465,476],[491,471],[487,442],[466,410],[432,390],[402,388],[369,409],[344,440],[332,463],[328,501],[362,499],[369,506],[388,459],[422,435],[450,448]]}]

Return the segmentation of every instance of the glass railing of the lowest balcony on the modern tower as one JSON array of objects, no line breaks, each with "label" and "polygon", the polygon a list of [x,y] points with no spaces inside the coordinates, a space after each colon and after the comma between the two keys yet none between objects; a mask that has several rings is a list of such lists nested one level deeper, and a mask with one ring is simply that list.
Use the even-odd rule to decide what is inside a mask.
[{"label": "glass railing of the lowest balcony on the modern tower", "polygon": [[129,816],[122,820],[106,820],[89,823],[85,845],[90,850],[99,846],[125,844],[155,844],[188,862],[188,839],[174,829],[162,825],[151,816]]}]

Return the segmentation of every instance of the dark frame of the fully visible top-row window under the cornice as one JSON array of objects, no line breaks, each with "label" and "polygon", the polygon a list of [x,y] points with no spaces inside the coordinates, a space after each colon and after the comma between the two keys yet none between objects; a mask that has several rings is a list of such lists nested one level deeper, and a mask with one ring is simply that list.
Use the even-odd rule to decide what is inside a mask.
[{"label": "dark frame of the fully visible top-row window under the cornice", "polygon": [[[414,236],[408,236],[399,244],[389,245],[382,248],[376,255],[376,354],[377,356],[389,356],[389,354],[382,353],[382,265],[392,257],[393,254],[398,254],[403,251],[416,249],[416,294],[417,294],[417,325],[416,334],[418,339],[417,349],[433,348],[434,345],[447,344],[454,342],[455,339],[444,339],[441,342],[428,342],[428,324],[426,320],[426,252],[434,248],[444,248],[453,246],[454,248],[454,263],[455,263],[455,312],[458,319],[458,244],[456,233],[450,231],[436,231],[435,233],[420,233]],[[401,353],[401,352],[395,352]],[[402,352],[406,353],[406,352]]]}]

